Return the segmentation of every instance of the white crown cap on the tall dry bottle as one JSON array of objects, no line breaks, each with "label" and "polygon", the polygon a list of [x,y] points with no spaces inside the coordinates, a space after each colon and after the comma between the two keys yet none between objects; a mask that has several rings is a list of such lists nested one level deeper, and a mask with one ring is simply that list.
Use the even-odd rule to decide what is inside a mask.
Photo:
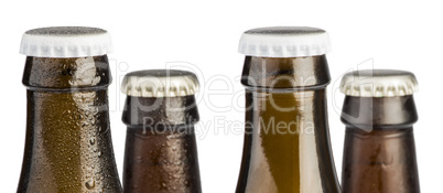
[{"label": "white crown cap on the tall dry bottle", "polygon": [[246,31],[238,52],[260,57],[302,57],[331,52],[326,31],[309,26],[272,26]]}]

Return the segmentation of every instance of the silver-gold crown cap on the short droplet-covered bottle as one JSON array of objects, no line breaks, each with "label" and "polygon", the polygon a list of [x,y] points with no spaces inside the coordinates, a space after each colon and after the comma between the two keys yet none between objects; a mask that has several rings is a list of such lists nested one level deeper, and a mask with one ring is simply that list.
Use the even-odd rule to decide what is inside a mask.
[{"label": "silver-gold crown cap on the short droplet-covered bottle", "polygon": [[177,97],[199,89],[197,76],[187,71],[149,69],[127,74],[121,93],[134,97]]}]

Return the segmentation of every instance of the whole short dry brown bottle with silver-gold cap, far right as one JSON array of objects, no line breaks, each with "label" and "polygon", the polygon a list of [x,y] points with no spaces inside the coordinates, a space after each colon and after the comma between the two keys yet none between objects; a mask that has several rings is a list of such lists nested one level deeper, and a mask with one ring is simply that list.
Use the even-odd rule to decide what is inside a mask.
[{"label": "whole short dry brown bottle with silver-gold cap, far right", "polygon": [[412,129],[417,87],[414,75],[403,71],[356,71],[343,77],[343,192],[420,192]]}]

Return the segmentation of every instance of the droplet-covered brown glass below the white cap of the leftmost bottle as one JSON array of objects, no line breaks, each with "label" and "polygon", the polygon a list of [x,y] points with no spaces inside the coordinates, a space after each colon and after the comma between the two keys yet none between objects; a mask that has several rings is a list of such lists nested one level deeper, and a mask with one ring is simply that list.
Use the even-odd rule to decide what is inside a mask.
[{"label": "droplet-covered brown glass below the white cap of the leftmost bottle", "polygon": [[[95,87],[104,79],[95,85],[76,79],[80,69],[66,66],[83,65],[67,61],[76,60],[28,57],[23,76],[26,139],[18,192],[119,192],[107,84]],[[68,68],[71,74],[62,71]],[[90,73],[82,77],[101,76]],[[68,85],[73,79],[88,84]]]}]

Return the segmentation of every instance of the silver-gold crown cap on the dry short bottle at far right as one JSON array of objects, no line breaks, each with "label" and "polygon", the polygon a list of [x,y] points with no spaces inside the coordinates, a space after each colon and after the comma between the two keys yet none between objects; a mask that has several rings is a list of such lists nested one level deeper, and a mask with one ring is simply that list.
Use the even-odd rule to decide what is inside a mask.
[{"label": "silver-gold crown cap on the dry short bottle at far right", "polygon": [[415,76],[407,71],[365,69],[343,76],[341,92],[357,97],[395,97],[419,90]]}]

